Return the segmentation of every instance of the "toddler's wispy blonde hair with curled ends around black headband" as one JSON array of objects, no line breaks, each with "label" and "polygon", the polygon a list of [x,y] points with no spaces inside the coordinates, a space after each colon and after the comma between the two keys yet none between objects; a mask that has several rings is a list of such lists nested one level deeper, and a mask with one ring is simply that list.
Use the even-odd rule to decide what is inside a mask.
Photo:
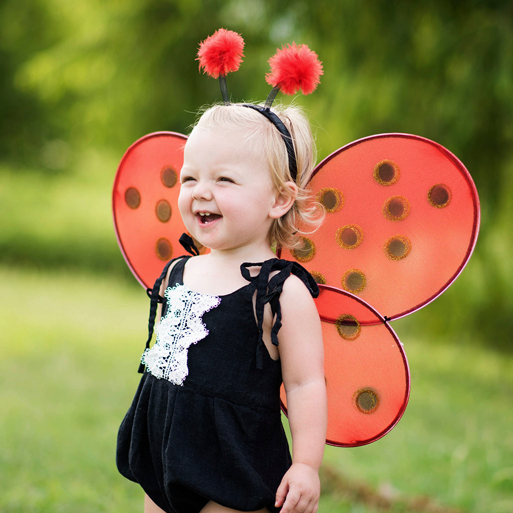
[{"label": "toddler's wispy blonde hair with curled ends around black headband", "polygon": [[301,246],[300,236],[312,233],[324,219],[324,209],[313,200],[307,188],[314,158],[315,142],[310,124],[297,106],[275,106],[271,110],[278,115],[292,137],[298,174],[295,181],[289,170],[288,154],[282,135],[261,113],[244,104],[218,104],[202,114],[196,124],[213,129],[235,129],[240,131],[244,142],[251,144],[263,158],[271,172],[274,186],[292,193],[287,182],[295,183],[298,193],[294,203],[281,218],[273,221],[270,230],[272,245],[294,248]]}]

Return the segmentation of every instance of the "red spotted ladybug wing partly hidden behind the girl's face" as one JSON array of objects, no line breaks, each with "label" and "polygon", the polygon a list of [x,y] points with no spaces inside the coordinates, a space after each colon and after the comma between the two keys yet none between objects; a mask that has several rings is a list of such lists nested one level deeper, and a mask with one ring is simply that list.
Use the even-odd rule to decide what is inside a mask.
[{"label": "red spotted ladybug wing partly hidden behind the girl's face", "polygon": [[184,252],[179,238],[186,229],[177,201],[186,140],[174,132],[145,135],[117,168],[114,228],[128,267],[144,287],[152,287],[164,263]]}]

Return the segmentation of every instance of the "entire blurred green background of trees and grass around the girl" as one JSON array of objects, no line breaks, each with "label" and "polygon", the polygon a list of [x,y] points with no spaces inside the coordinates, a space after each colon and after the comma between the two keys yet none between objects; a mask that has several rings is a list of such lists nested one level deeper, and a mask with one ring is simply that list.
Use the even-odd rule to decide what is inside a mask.
[{"label": "entire blurred green background of trees and grass around the girl", "polygon": [[392,324],[412,374],[403,419],[369,446],[327,449],[321,511],[513,511],[513,4],[503,0],[2,2],[0,511],[142,511],[114,452],[148,306],[117,247],[111,187],[132,142],[188,133],[220,100],[194,61],[220,27],[246,43],[228,76],[237,101],[265,100],[277,47],[319,54],[318,90],[294,101],[312,116],[320,159],[367,135],[413,133],[455,153],[480,195],[461,277]]}]

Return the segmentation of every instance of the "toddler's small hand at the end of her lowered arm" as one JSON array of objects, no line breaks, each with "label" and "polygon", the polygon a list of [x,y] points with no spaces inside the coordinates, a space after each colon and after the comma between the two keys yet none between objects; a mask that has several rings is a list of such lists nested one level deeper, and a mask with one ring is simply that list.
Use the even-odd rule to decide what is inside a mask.
[{"label": "toddler's small hand at the end of her lowered arm", "polygon": [[292,463],[276,492],[280,513],[316,513],[321,484],[319,472],[305,463]]}]

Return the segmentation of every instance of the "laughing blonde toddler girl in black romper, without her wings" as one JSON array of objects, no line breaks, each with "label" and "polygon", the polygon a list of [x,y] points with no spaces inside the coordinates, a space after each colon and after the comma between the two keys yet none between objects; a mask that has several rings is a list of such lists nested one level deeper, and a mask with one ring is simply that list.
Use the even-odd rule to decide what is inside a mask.
[{"label": "laughing blonde toddler girl in black romper, without her wings", "polygon": [[117,466],[145,490],[146,513],[318,508],[318,287],[271,249],[293,247],[298,226],[318,225],[305,191],[313,140],[298,109],[272,110],[214,106],[185,145],[179,209],[210,252],[172,260],[153,289],[150,334],[163,297],[156,342],[117,445]]}]

